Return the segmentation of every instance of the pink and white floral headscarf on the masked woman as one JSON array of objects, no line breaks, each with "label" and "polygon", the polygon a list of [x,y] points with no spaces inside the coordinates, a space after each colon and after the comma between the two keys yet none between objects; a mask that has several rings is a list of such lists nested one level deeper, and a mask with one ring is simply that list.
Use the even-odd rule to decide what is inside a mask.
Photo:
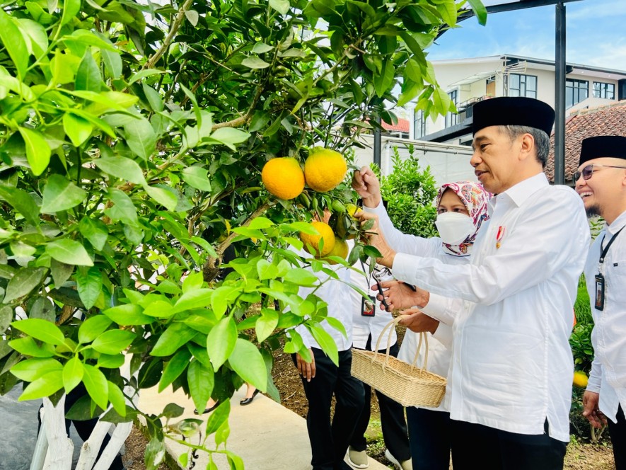
[{"label": "pink and white floral headscarf on the masked woman", "polygon": [[470,212],[470,217],[472,217],[476,229],[473,234],[468,236],[468,238],[459,245],[443,243],[444,250],[451,255],[468,256],[470,254],[470,248],[474,244],[478,229],[480,229],[483,221],[489,219],[489,215],[487,215],[487,203],[492,197],[492,194],[487,192],[480,183],[474,183],[473,181],[446,183],[439,188],[439,193],[437,193],[436,207],[438,210],[441,196],[444,195],[444,191],[448,188],[453,191],[461,202],[463,202],[465,207],[468,208],[468,212]]}]

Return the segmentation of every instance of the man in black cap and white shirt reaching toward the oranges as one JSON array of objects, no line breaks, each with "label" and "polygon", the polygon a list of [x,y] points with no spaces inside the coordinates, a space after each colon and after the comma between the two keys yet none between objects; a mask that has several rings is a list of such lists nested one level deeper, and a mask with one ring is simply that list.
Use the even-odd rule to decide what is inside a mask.
[{"label": "man in black cap and white shirt reaching toward the oranges", "polygon": [[[455,470],[562,469],[569,442],[572,306],[589,248],[579,197],[543,174],[555,113],[532,98],[473,108],[470,164],[489,221],[472,263],[396,253],[372,229],[378,263],[422,288],[424,312],[453,323],[448,394]],[[361,214],[362,219],[372,218]],[[433,296],[429,303],[429,292]]]}]

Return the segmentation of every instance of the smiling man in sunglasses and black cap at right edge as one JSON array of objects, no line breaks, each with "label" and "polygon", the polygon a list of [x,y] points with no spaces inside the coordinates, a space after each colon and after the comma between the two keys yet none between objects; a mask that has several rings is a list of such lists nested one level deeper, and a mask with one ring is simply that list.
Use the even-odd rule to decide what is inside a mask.
[{"label": "smiling man in sunglasses and black cap at right edge", "polygon": [[593,314],[593,364],[583,415],[607,423],[615,469],[626,469],[626,137],[584,139],[576,193],[587,214],[606,222],[589,250],[585,280]]}]

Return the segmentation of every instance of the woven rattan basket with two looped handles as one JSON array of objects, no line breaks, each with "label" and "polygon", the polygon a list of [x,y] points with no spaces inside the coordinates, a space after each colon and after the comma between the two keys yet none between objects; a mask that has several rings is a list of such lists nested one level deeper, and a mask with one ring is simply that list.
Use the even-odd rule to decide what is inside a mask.
[{"label": "woven rattan basket with two looped handles", "polygon": [[[383,328],[381,335],[378,336],[375,351],[380,350],[381,338],[383,338],[385,331],[392,325],[395,328],[401,318],[398,316]],[[386,354],[352,348],[352,376],[357,377],[361,382],[380,391],[381,394],[397,401],[402,406],[439,406],[446,393],[446,379],[426,370],[428,361],[426,333],[419,335],[419,345],[412,364],[389,355],[391,336],[392,330],[389,331]],[[416,367],[415,362],[417,362],[422,343],[426,348],[424,364],[422,367]]]}]

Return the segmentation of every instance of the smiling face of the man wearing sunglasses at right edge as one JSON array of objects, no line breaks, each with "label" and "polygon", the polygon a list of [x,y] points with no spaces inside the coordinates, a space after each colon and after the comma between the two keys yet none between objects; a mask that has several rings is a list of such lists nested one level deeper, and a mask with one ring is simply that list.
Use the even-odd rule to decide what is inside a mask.
[{"label": "smiling face of the man wearing sunglasses at right edge", "polygon": [[593,173],[588,180],[584,179],[581,174],[580,178],[574,181],[576,193],[582,198],[589,217],[596,215],[604,217],[607,207],[615,204],[622,197],[626,179],[626,169],[610,168],[610,166],[626,167],[626,160],[601,157],[584,162],[579,166],[578,171],[582,173],[583,169],[590,165],[598,166],[593,166]]}]

